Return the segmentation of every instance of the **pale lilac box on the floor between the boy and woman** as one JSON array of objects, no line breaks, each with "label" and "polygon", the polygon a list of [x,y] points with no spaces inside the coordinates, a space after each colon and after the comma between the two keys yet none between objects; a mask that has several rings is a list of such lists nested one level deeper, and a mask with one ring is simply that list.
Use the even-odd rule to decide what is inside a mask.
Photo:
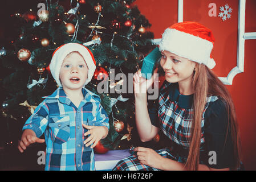
[{"label": "pale lilac box on the floor between the boy and woman", "polygon": [[110,150],[105,154],[95,154],[96,171],[111,171],[119,160],[130,155],[129,150]]}]

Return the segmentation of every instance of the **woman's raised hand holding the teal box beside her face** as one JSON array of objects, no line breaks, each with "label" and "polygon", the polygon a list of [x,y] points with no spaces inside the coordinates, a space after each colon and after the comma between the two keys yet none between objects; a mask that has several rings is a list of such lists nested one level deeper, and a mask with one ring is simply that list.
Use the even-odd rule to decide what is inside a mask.
[{"label": "woman's raised hand holding the teal box beside her face", "polygon": [[155,69],[152,77],[148,80],[141,74],[141,69],[133,75],[133,88],[136,97],[143,97],[147,94],[147,90],[151,87],[153,82],[158,81],[158,68]]}]

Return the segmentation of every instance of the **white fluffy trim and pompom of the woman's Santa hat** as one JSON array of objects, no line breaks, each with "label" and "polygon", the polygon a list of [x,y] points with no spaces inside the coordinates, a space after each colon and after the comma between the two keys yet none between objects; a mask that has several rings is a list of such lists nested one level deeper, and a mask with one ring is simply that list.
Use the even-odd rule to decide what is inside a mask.
[{"label": "white fluffy trim and pompom of the woman's Santa hat", "polygon": [[215,61],[210,58],[213,49],[212,42],[176,29],[166,28],[162,34],[159,49],[205,64],[210,69],[216,65]]}]

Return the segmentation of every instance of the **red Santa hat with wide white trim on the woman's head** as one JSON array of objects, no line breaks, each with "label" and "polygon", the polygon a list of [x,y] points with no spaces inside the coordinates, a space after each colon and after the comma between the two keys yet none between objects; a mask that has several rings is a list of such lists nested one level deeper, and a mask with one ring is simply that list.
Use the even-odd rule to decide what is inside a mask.
[{"label": "red Santa hat with wide white trim on the woman's head", "polygon": [[166,28],[159,44],[160,51],[169,51],[213,69],[211,52],[214,36],[209,28],[197,22],[175,23]]}]

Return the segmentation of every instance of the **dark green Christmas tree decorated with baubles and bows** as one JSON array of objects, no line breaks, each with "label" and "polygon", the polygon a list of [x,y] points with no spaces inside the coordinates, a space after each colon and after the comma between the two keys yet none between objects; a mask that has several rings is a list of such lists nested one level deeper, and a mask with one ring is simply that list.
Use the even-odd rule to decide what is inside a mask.
[{"label": "dark green Christmas tree decorated with baubles and bows", "polygon": [[[10,15],[15,39],[0,49],[1,66],[10,73],[1,80],[1,117],[7,130],[15,127],[10,121],[23,125],[42,97],[58,88],[48,66],[52,53],[62,44],[76,42],[88,47],[96,60],[94,78],[86,88],[100,96],[109,115],[109,134],[100,142],[111,150],[136,142],[134,96],[128,82],[155,45],[153,33],[147,31],[151,24],[134,1],[71,0],[69,7],[46,1],[38,4],[38,12],[31,7]],[[97,89],[99,84],[107,85],[104,92]]]}]

